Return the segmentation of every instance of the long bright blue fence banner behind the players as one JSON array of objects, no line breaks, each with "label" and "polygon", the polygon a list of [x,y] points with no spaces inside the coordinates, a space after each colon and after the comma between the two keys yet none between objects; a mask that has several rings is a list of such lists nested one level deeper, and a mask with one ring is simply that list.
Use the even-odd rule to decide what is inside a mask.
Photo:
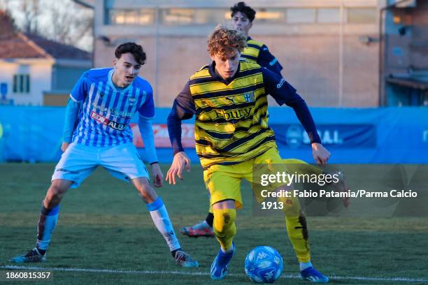
[{"label": "long bright blue fence banner behind the players", "polygon": [[[311,112],[331,163],[428,163],[428,108]],[[157,108],[154,123],[165,124],[168,114],[169,108]],[[63,124],[64,108],[0,106],[0,161],[57,161]],[[269,124],[281,156],[313,162],[308,137],[291,108],[269,108]],[[187,153],[198,162],[194,149]],[[161,162],[171,162],[171,154],[171,149],[158,149]]]}]

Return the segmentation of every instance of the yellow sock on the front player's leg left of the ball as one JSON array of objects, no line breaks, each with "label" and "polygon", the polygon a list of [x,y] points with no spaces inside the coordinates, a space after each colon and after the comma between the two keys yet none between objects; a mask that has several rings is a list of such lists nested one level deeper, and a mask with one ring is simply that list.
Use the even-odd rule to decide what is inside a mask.
[{"label": "yellow sock on the front player's leg left of the ball", "polygon": [[232,240],[236,234],[235,209],[214,209],[214,233],[222,249],[225,251],[231,248]]}]

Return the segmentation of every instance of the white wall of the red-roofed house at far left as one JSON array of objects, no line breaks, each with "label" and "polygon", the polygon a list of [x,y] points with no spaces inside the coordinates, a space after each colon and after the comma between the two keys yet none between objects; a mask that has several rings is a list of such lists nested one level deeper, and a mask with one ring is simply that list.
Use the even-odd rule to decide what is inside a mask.
[{"label": "white wall of the red-roofed house at far left", "polygon": [[[52,59],[0,60],[0,82],[8,84],[7,98],[15,105],[43,105],[43,92],[52,87]],[[27,73],[30,77],[29,93],[13,92],[13,75]]]}]

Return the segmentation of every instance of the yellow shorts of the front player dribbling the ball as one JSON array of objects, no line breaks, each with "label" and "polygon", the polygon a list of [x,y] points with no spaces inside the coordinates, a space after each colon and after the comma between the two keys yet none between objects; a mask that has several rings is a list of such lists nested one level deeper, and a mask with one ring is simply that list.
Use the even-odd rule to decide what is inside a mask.
[{"label": "yellow shorts of the front player dribbling the ball", "polygon": [[213,165],[204,170],[204,182],[210,193],[210,205],[221,200],[235,200],[236,209],[242,207],[241,180],[252,183],[253,166],[257,163],[283,163],[278,149],[273,147],[263,154],[238,164],[229,166]]}]

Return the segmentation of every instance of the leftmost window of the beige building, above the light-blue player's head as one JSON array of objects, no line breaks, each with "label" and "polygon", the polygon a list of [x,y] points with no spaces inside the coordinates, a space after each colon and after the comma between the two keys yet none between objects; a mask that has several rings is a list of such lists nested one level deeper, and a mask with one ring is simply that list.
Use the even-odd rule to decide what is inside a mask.
[{"label": "leftmost window of the beige building, above the light-blue player's head", "polygon": [[108,24],[145,26],[155,23],[155,9],[109,9]]}]

